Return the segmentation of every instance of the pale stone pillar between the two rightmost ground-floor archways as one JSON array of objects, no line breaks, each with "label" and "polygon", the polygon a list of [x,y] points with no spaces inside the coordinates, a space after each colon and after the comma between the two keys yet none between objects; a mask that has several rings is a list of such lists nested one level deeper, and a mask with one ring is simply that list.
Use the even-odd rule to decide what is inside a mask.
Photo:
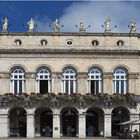
[{"label": "pale stone pillar between the two rightmost ground-floor archways", "polygon": [[104,114],[104,137],[111,137],[111,114]]}]

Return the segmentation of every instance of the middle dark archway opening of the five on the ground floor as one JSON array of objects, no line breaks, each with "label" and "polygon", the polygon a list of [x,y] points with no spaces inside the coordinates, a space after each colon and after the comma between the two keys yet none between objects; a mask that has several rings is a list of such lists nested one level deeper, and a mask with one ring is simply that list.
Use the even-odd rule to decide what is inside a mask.
[{"label": "middle dark archway opening of the five on the ground floor", "polygon": [[76,137],[78,126],[78,111],[74,108],[65,108],[61,111],[61,125],[63,136]]}]

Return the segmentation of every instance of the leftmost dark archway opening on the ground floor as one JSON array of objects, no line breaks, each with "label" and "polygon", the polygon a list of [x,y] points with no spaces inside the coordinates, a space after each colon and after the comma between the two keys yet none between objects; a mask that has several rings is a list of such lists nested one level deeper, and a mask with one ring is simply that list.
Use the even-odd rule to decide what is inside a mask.
[{"label": "leftmost dark archway opening on the ground floor", "polygon": [[21,107],[15,107],[9,112],[10,136],[26,137],[26,111]]}]

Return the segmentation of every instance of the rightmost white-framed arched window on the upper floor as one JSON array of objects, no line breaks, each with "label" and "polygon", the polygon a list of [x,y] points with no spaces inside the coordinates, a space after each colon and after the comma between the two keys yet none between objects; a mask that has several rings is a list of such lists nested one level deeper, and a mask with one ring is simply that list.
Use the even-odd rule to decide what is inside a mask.
[{"label": "rightmost white-framed arched window on the upper floor", "polygon": [[113,92],[126,93],[128,89],[127,72],[123,68],[116,68],[113,74]]}]

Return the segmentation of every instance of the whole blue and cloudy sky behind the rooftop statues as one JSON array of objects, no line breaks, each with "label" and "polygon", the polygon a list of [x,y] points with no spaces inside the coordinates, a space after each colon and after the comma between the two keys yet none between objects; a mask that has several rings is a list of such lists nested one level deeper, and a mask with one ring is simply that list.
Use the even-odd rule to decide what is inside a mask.
[{"label": "whole blue and cloudy sky behind the rooftop statues", "polygon": [[[87,32],[103,32],[106,17],[111,19],[112,32],[129,32],[128,24],[134,19],[140,32],[139,1],[0,1],[0,21],[9,19],[9,31],[27,31],[30,17],[36,21],[37,32],[50,32],[55,18],[64,25],[62,32],[77,32],[80,19]],[[115,29],[114,26],[117,25]],[[0,22],[1,28],[1,22]]]}]

